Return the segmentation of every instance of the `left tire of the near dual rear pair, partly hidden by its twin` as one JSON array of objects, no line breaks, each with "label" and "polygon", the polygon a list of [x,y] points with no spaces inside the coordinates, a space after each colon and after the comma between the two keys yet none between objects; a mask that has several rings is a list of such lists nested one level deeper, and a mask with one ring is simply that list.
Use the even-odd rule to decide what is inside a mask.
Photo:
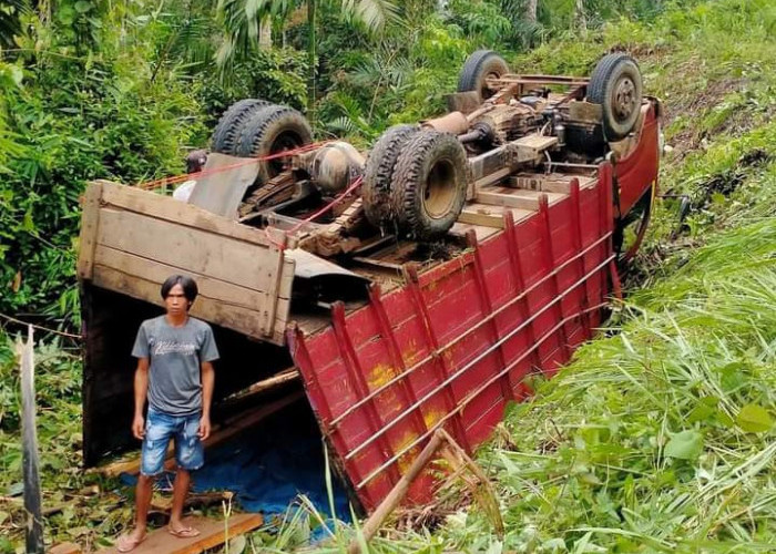
[{"label": "left tire of the near dual rear pair, partly hidden by its twin", "polygon": [[395,125],[382,133],[367,156],[361,185],[364,215],[375,227],[390,218],[390,184],[401,148],[415,134],[417,125]]}]

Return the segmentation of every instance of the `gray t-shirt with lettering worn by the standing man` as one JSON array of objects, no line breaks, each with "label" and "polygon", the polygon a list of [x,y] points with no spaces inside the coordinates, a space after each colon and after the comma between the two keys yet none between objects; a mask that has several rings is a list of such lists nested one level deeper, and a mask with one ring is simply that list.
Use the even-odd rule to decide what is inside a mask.
[{"label": "gray t-shirt with lettering worn by the standing man", "polygon": [[182,327],[165,316],[146,319],[132,348],[135,358],[149,358],[149,406],[171,416],[202,410],[200,365],[218,359],[213,329],[190,317]]}]

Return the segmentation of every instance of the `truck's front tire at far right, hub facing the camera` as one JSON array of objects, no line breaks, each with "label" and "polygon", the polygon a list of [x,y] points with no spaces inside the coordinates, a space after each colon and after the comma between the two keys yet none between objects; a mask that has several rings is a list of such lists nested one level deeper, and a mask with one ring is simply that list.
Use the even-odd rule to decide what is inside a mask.
[{"label": "truck's front tire at far right, hub facing the camera", "polygon": [[642,79],[627,54],[609,54],[595,65],[588,84],[588,102],[601,104],[606,141],[620,141],[633,131],[642,101]]}]

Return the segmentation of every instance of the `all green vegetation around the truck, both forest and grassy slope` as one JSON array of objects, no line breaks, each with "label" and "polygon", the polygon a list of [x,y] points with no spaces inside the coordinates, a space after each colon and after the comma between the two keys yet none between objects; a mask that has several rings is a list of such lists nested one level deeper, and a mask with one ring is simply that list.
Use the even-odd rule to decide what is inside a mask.
[{"label": "all green vegetation around the truck, both forest and grassy slope", "polygon": [[[303,107],[319,136],[368,144],[441,106],[466,55],[487,45],[518,71],[586,73],[609,50],[639,58],[663,99],[666,199],[637,268],[650,277],[617,309],[611,336],[511,410],[480,454],[508,524],[439,506],[385,552],[768,550],[774,542],[773,219],[776,7],[766,0],[519,0],[318,8],[316,93],[309,29],[295,2],[27,2],[0,9],[0,312],[78,329],[78,197],[91,178],[135,183],[183,170],[223,109],[245,96]],[[160,7],[161,6],[161,7]],[[581,16],[584,16],[581,18]],[[272,48],[258,48],[268,22]],[[582,30],[582,21],[586,30]],[[326,32],[320,30],[325,29]],[[265,29],[266,30],[266,29]],[[636,280],[634,279],[634,283]],[[19,327],[12,327],[17,330]],[[1,331],[0,331],[1,332]],[[18,377],[0,335],[0,494],[20,481]],[[78,345],[38,352],[50,536],[94,544],[130,517],[115,483],[83,475]],[[100,495],[89,486],[99,484]],[[303,517],[279,535],[306,537]],[[0,505],[0,550],[21,537]],[[350,530],[340,530],[343,541]]]}]

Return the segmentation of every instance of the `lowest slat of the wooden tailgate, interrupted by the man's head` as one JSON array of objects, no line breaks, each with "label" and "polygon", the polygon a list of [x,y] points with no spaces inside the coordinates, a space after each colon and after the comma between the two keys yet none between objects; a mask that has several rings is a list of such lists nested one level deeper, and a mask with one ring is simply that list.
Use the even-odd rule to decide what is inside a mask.
[{"label": "lowest slat of the wooden tailgate, interrupted by the man's head", "polygon": [[[141,277],[126,275],[112,267],[96,265],[94,266],[94,276],[92,281],[98,287],[108,290],[119,290],[123,294],[137,298],[139,300],[151,301],[159,306],[163,305],[160,297],[160,284]],[[288,300],[282,299],[278,302],[278,314],[288,312]],[[264,336],[261,331],[261,314],[258,311],[238,308],[235,306],[225,305],[212,298],[197,298],[192,307],[192,316],[205,321],[234,329],[238,332],[247,335],[256,339],[267,340],[275,345],[285,343],[285,326],[283,319],[275,319],[275,329],[272,335]]]}]

